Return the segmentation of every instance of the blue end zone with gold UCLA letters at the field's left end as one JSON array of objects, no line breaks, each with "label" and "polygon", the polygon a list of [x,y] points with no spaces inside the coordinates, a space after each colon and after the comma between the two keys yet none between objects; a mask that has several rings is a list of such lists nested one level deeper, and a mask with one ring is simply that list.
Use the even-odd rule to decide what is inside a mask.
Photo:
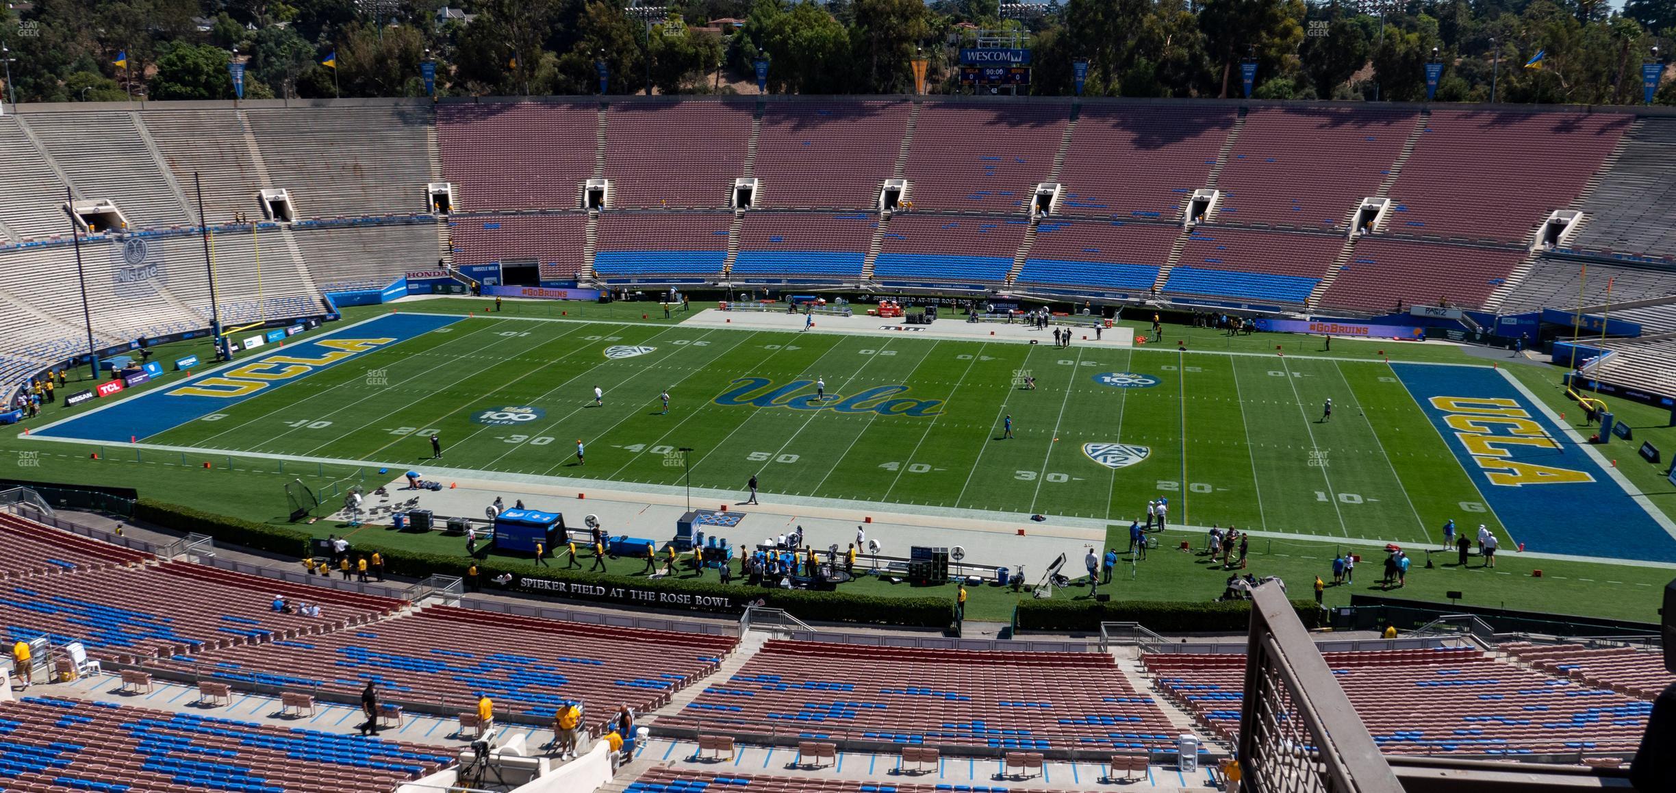
[{"label": "blue end zone with gold UCLA letters at the field's left end", "polygon": [[[322,369],[355,360],[367,352],[389,349],[394,344],[429,334],[431,330],[451,325],[461,319],[464,317],[391,314],[335,330],[318,339],[250,354],[248,357],[238,359],[231,365],[223,365],[191,379],[147,391],[132,399],[122,399],[109,407],[42,428],[35,434],[111,443],[127,443],[129,438],[146,439],[188,421],[225,411],[238,402],[243,402],[245,399],[272,394],[275,387],[285,386],[287,382],[308,377]],[[275,357],[297,360],[272,360]],[[322,359],[325,359],[325,362],[322,362]],[[308,364],[302,364],[298,360],[308,360]],[[238,377],[240,371],[251,367],[261,371],[260,381],[255,377]],[[228,381],[246,384],[260,382],[261,387],[235,394],[235,391],[240,389],[226,386]],[[181,394],[181,389],[186,387],[228,391],[228,396]]]}]

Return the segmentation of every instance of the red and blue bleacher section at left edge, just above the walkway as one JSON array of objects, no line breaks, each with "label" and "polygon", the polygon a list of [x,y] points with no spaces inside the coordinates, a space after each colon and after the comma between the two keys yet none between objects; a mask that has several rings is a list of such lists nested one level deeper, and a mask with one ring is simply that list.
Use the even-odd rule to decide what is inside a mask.
[{"label": "red and blue bleacher section at left edge, just above the walkway", "polygon": [[[82,642],[92,659],[129,662],[339,629],[402,605],[178,562],[8,583],[0,592],[7,642],[47,635],[54,644]],[[275,595],[317,604],[322,615],[275,612]]]}]

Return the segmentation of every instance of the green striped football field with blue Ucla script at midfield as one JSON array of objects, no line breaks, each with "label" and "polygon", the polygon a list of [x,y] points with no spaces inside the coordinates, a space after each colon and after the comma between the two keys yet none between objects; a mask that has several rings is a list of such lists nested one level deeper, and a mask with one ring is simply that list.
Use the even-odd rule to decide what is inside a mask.
[{"label": "green striped football field with blue Ucla script at midfield", "polygon": [[[37,434],[401,466],[394,478],[431,464],[437,433],[451,469],[654,485],[691,469],[696,488],[737,491],[756,474],[769,496],[1115,521],[1168,498],[1175,523],[1403,543],[1453,518],[1513,545],[1564,505],[1560,485],[1487,498],[1472,468],[1485,458],[1428,416],[1425,389],[1493,387],[1488,367],[424,314],[322,339],[359,342],[288,345],[303,364],[270,364],[253,391],[199,376],[203,396],[154,389]],[[1532,515],[1515,521],[1518,505]],[[1574,552],[1540,538],[1530,550]]]}]

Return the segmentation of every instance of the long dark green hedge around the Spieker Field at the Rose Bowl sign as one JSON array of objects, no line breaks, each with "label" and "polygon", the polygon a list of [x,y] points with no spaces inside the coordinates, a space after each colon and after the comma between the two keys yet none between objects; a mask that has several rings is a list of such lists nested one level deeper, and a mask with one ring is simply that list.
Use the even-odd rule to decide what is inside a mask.
[{"label": "long dark green hedge around the Spieker Field at the Rose Bowl sign", "polygon": [[[134,505],[134,520],[179,531],[196,531],[231,545],[243,545],[297,560],[302,560],[308,553],[308,540],[312,538],[312,535],[290,526],[253,523],[154,498],[141,498]],[[464,577],[466,568],[471,565],[471,560],[464,557],[422,553],[369,542],[357,542],[355,550],[364,553],[377,552],[384,557],[384,570],[387,573],[411,578],[424,578],[427,575]],[[510,583],[513,590],[540,592],[572,600],[724,614],[739,614],[744,610],[744,604],[761,602],[761,605],[784,609],[793,617],[815,622],[861,622],[937,629],[944,629],[954,622],[954,602],[949,597],[877,597],[848,592],[783,590],[737,583],[722,585],[721,582],[702,578],[602,575],[558,567],[540,568],[536,573],[530,568],[528,562],[516,568],[496,567],[494,560],[478,562],[478,580],[484,588],[494,588],[491,580],[501,573],[513,575]]]}]

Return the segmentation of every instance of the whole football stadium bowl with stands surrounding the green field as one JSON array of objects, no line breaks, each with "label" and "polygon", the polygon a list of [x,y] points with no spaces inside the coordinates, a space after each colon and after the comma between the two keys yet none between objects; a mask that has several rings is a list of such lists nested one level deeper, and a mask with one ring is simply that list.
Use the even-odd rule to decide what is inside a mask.
[{"label": "whole football stadium bowl with stands surrounding the green field", "polygon": [[0,790],[1676,790],[1669,107],[647,94],[0,106]]}]

